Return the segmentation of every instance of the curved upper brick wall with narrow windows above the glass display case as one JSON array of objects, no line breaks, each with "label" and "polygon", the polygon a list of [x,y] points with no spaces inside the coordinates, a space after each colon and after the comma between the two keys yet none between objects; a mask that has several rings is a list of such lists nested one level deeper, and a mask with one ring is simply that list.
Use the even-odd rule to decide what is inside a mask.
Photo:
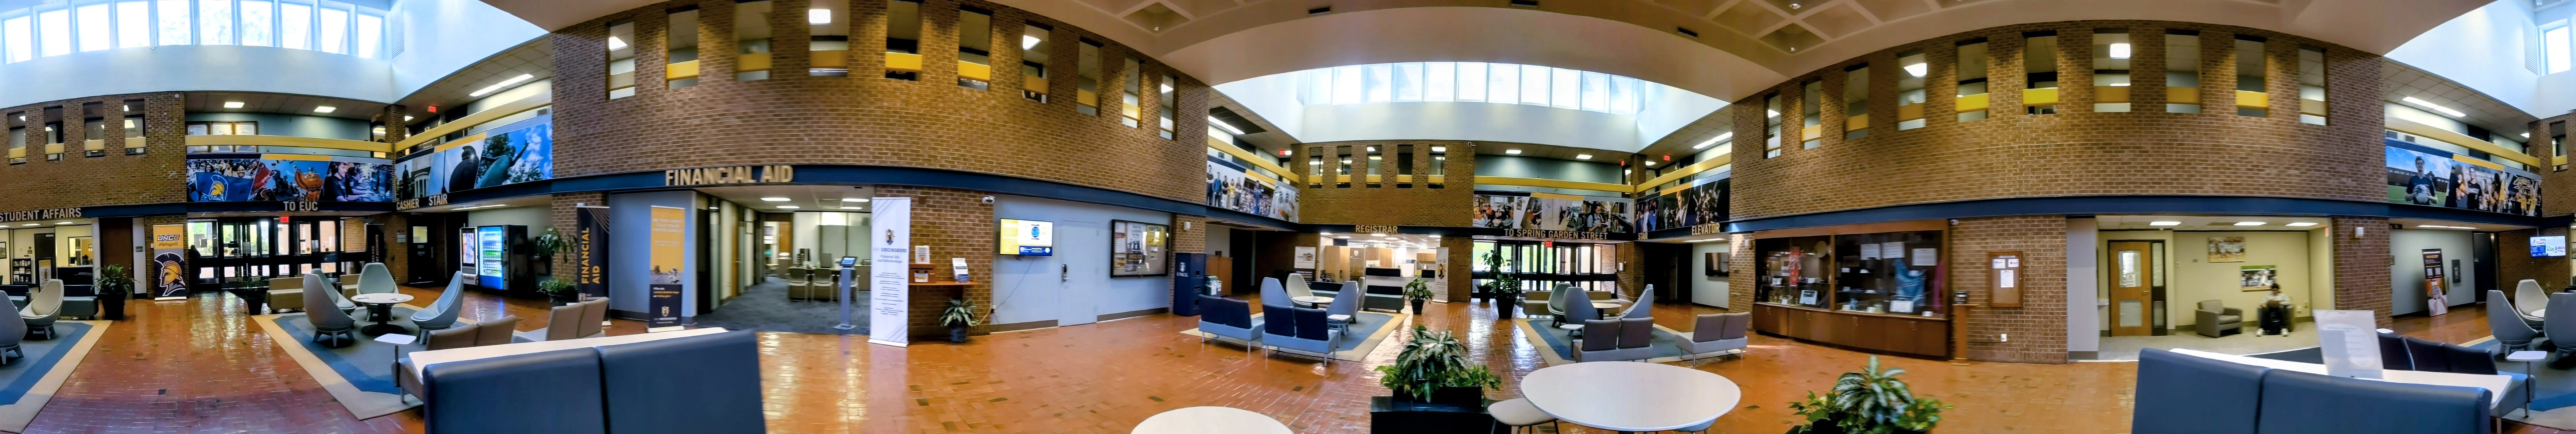
[{"label": "curved upper brick wall with narrow windows above the glass display case", "polygon": [[[2130,113],[2094,113],[2092,28],[2130,28],[2133,90],[2164,87],[2164,28],[2200,31],[2202,113],[2164,113],[2164,92],[2136,92]],[[2061,100],[2022,113],[2022,31],[2058,31]],[[2275,103],[2269,118],[2236,116],[2236,33],[2269,39],[2267,92],[2298,95],[2298,46],[2326,49],[2329,126]],[[1927,95],[1958,95],[1955,41],[1989,39],[1991,118],[1958,123],[1950,98],[1924,105],[1924,128],[1896,131],[1896,54],[1924,51]],[[1844,67],[1870,64],[1865,139],[1842,139]],[[1783,157],[1762,157],[1759,92],[1736,105],[1736,218],[2030,195],[2282,195],[2383,200],[2380,56],[2298,36],[2164,21],[2066,21],[1965,31],[1893,46],[1780,82]],[[1801,82],[1821,80],[1824,134],[1801,149]]]}]

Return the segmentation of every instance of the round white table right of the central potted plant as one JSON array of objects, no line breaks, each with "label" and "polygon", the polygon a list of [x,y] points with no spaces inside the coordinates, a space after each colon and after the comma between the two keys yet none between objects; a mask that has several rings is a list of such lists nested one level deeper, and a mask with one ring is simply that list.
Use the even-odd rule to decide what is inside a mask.
[{"label": "round white table right of the central potted plant", "polygon": [[1716,421],[1744,401],[1723,375],[1659,362],[1574,362],[1520,378],[1520,395],[1558,421],[1664,431]]}]

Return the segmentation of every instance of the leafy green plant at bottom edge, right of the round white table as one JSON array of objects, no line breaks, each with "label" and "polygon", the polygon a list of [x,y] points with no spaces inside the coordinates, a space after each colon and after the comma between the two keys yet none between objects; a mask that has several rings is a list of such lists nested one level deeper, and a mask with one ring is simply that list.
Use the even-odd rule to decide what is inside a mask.
[{"label": "leafy green plant at bottom edge, right of the round white table", "polygon": [[1806,416],[1806,424],[1790,426],[1790,434],[1914,434],[1932,431],[1940,421],[1940,411],[1947,403],[1932,398],[1914,398],[1914,388],[1896,380],[1906,370],[1888,367],[1878,370],[1878,357],[1870,357],[1870,367],[1860,372],[1842,372],[1834,380],[1834,390],[1816,395],[1806,393],[1803,403],[1788,403],[1793,413]]}]

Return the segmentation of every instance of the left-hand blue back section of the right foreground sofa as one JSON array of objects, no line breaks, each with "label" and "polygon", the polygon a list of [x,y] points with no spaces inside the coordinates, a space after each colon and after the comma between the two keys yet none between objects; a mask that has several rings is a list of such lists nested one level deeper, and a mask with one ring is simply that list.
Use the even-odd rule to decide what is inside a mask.
[{"label": "left-hand blue back section of the right foreground sofa", "polygon": [[2251,434],[2267,367],[2138,349],[2136,434]]}]

